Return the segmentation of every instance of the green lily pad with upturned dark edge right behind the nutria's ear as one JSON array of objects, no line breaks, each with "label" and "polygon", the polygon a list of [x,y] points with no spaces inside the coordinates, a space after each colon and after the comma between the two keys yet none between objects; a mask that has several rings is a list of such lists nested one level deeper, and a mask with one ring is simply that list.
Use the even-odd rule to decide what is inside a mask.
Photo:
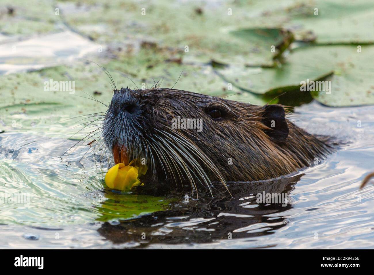
[{"label": "green lily pad with upturned dark edge right behind the nutria's ear", "polygon": [[374,46],[307,46],[295,49],[278,68],[229,67],[218,73],[241,89],[259,94],[301,91],[301,82],[331,81],[331,92],[313,91],[316,100],[328,106],[374,103],[371,64]]}]

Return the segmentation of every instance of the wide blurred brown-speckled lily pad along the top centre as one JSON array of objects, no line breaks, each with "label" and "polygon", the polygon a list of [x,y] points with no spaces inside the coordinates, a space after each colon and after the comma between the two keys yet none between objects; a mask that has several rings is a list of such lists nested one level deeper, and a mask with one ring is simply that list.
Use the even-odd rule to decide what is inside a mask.
[{"label": "wide blurred brown-speckled lily pad along the top centre", "polygon": [[[259,27],[251,18],[264,10],[276,9],[278,1],[262,5],[170,1],[80,1],[80,5],[60,1],[66,22],[98,43],[128,47],[138,41],[151,41],[162,48],[179,49],[184,62],[273,65],[278,46],[289,33],[280,28]],[[77,10],[85,8],[85,12]],[[263,20],[266,21],[266,20]],[[263,22],[262,21],[262,22]],[[98,22],[100,22],[98,24]],[[136,46],[132,46],[136,48]],[[188,49],[187,49],[188,48]],[[130,49],[134,51],[134,49]]]}]

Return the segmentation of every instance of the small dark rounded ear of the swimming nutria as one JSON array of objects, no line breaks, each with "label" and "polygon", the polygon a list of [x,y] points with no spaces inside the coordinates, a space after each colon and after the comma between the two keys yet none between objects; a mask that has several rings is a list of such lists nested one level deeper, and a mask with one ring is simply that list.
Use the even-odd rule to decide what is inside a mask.
[{"label": "small dark rounded ear of the swimming nutria", "polygon": [[288,137],[288,124],[285,111],[281,105],[265,105],[261,122],[271,130],[264,132],[275,142],[282,142]]}]

